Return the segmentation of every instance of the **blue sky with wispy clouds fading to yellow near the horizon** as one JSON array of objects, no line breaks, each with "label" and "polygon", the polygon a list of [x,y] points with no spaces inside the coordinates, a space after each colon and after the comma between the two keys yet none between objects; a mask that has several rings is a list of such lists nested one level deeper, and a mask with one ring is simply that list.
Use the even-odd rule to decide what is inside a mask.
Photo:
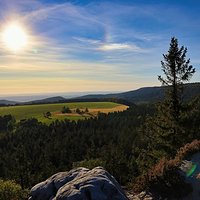
[{"label": "blue sky with wispy clouds fading to yellow near the horizon", "polygon": [[[0,0],[0,95],[159,86],[171,37],[200,75],[199,0]],[[2,40],[17,22],[27,44]]]}]

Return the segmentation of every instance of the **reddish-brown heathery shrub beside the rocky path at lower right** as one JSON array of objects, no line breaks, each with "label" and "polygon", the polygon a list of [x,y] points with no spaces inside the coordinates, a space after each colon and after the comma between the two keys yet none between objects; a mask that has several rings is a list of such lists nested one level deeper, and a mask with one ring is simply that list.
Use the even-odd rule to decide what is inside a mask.
[{"label": "reddish-brown heathery shrub beside the rocky path at lower right", "polygon": [[[184,177],[178,173],[182,161],[200,150],[200,140],[181,147],[174,159],[163,158],[152,167],[146,174],[138,177],[133,184],[136,192],[150,190],[162,198],[180,198],[192,191],[189,184],[185,183]],[[169,196],[170,195],[170,196]]]}]

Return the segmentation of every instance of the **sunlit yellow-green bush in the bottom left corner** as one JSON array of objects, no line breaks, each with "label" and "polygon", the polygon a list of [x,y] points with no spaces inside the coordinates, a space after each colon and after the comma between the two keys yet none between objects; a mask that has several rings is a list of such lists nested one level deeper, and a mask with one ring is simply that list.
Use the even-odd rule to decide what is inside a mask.
[{"label": "sunlit yellow-green bush in the bottom left corner", "polygon": [[0,200],[25,200],[28,199],[28,191],[12,180],[0,179]]}]

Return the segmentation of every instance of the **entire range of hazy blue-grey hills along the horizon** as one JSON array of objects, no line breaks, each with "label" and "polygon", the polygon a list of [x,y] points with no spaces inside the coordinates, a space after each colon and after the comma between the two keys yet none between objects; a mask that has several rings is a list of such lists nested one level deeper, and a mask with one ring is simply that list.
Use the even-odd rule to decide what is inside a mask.
[{"label": "entire range of hazy blue-grey hills along the horizon", "polygon": [[[14,104],[43,104],[43,103],[59,103],[59,102],[73,102],[73,101],[102,101],[107,99],[123,100],[130,103],[153,103],[161,101],[164,98],[166,87],[144,87],[133,91],[113,93],[113,94],[89,94],[76,98],[66,99],[61,96],[45,98],[41,100],[29,102],[15,102],[0,100],[0,105],[14,105]],[[200,96],[200,83],[189,83],[184,85],[184,100],[190,100]]]}]

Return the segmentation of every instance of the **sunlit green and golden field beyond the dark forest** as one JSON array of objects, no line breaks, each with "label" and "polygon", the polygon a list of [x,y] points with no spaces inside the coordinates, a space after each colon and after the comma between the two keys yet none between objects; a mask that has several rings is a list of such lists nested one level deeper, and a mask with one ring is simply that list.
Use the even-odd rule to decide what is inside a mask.
[{"label": "sunlit green and golden field beyond the dark forest", "polygon": [[[62,114],[63,106],[72,110],[70,114]],[[77,114],[75,109],[85,110],[88,108],[87,114]],[[76,102],[76,103],[57,103],[57,104],[39,104],[39,105],[23,105],[23,106],[5,106],[0,107],[0,115],[11,114],[17,121],[27,118],[37,118],[39,121],[51,123],[56,119],[78,120],[96,116],[98,112],[114,112],[123,111],[127,106],[113,102]],[[43,113],[51,112],[50,118],[45,118]]]}]

